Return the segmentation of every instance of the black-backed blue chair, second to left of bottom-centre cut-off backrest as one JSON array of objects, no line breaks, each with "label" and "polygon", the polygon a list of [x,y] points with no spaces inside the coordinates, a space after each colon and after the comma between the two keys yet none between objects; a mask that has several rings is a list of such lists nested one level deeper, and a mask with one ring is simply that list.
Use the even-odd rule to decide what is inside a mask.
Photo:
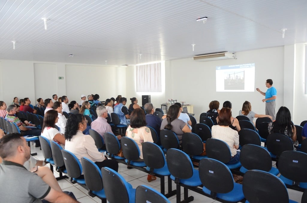
[{"label": "black-backed blue chair, second to left of bottom-centre cut-off backrest", "polygon": [[84,173],[84,179],[87,188],[89,189],[88,194],[91,197],[97,196],[102,200],[103,203],[107,203],[106,194],[104,192],[102,174],[99,167],[86,157],[81,158],[82,169]]}]

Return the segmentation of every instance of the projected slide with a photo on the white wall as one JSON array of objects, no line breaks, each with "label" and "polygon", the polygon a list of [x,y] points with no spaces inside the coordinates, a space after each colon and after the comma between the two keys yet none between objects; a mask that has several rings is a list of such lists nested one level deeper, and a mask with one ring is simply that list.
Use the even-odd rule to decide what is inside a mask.
[{"label": "projected slide with a photo on the white wall", "polygon": [[255,63],[217,66],[217,92],[255,91]]}]

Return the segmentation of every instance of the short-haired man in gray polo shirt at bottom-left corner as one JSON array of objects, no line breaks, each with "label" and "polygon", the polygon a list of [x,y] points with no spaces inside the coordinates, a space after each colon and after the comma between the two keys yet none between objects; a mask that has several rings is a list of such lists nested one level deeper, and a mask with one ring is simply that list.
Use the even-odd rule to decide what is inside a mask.
[{"label": "short-haired man in gray polo shirt at bottom-left corner", "polygon": [[78,202],[63,192],[47,185],[23,164],[30,158],[30,147],[25,138],[13,133],[0,140],[0,199],[1,202]]}]

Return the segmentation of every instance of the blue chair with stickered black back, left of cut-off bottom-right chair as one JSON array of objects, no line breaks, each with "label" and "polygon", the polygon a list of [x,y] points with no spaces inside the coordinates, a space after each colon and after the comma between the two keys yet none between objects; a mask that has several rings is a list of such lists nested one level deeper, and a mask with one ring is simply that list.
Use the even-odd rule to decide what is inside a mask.
[{"label": "blue chair with stickered black back, left of cut-off bottom-right chair", "polygon": [[234,181],[224,163],[210,158],[200,160],[199,176],[204,193],[211,198],[231,202],[244,199],[242,185]]}]

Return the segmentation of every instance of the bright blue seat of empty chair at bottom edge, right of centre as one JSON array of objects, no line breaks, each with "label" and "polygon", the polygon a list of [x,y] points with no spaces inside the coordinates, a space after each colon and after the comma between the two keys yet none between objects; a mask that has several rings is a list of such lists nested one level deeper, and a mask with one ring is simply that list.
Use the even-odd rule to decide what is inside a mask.
[{"label": "bright blue seat of empty chair at bottom edge, right of centre", "polygon": [[[206,187],[203,187],[204,193],[210,195],[211,191],[208,190]],[[242,185],[239,183],[234,182],[233,190],[229,193],[217,193],[216,194],[217,198],[226,200],[226,201],[232,201],[232,202],[237,202],[242,199],[244,199],[244,195],[242,193]]]}]

